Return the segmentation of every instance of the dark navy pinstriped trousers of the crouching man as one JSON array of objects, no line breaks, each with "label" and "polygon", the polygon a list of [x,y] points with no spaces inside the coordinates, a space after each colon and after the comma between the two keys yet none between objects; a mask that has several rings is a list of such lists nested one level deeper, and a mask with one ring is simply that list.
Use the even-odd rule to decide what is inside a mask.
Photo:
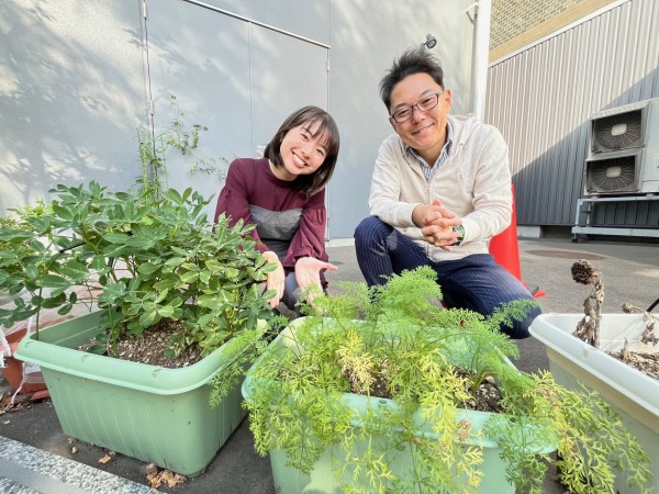
[{"label": "dark navy pinstriped trousers of the crouching man", "polygon": [[[420,266],[437,273],[444,302],[450,307],[469,308],[490,315],[502,303],[533,299],[528,290],[490,254],[473,254],[457,260],[435,262],[407,236],[376,216],[365,218],[355,229],[355,250],[359,269],[369,287],[383,284],[382,276],[400,274]],[[511,338],[529,336],[528,326],[540,313],[534,307],[524,321],[501,326]]]}]

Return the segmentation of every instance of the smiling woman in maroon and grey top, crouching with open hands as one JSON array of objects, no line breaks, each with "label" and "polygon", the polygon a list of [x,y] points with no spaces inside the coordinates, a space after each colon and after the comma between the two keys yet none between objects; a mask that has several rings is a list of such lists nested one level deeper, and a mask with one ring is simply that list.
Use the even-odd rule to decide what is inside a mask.
[{"label": "smiling woman in maroon and grey top, crouching with open hands", "polygon": [[[337,268],[325,252],[325,186],[338,155],[334,119],[317,106],[304,106],[283,121],[264,158],[238,158],[228,167],[215,221],[225,213],[230,224],[255,223],[252,236],[268,262],[270,306],[280,301],[299,314],[300,293],[311,285],[325,289],[324,270]],[[313,292],[313,290],[312,290]],[[313,293],[308,301],[311,302]]]}]

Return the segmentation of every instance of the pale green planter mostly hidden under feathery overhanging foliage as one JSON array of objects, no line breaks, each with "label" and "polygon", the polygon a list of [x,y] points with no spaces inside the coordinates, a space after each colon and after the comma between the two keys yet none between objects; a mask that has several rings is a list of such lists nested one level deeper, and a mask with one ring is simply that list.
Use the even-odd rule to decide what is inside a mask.
[{"label": "pale green planter mostly hidden under feathery overhanging foliage", "polygon": [[[303,318],[298,318],[291,323],[281,334],[272,340],[270,348],[288,348],[290,351],[299,351],[295,344],[295,339],[292,336],[295,326],[302,324]],[[502,357],[505,359],[505,357]],[[511,366],[510,360],[505,359]],[[257,369],[259,366],[257,360],[252,369]],[[252,372],[247,372],[247,377],[243,382],[243,396],[249,401],[252,396],[252,390],[258,385],[257,382],[252,378]],[[387,408],[395,406],[395,403],[391,400],[369,397],[365,395],[358,395],[353,393],[344,393],[345,400],[350,406],[357,411],[366,411],[367,408]],[[272,411],[277,413],[277,411]],[[479,445],[483,450],[483,462],[480,465],[480,470],[483,473],[482,481],[480,484],[480,491],[483,494],[514,494],[515,487],[509,483],[505,479],[506,463],[500,458],[501,449],[499,446],[483,437],[477,437],[481,431],[485,422],[491,417],[492,414],[487,412],[476,412],[469,409],[462,409],[458,414],[457,420],[468,418],[472,425],[471,435],[465,441],[466,445]],[[420,419],[421,423],[421,419]],[[272,431],[277,434],[277,431]],[[435,433],[429,426],[424,427],[420,425],[418,435],[423,436],[435,436]],[[356,441],[355,449],[350,452],[349,457],[360,457],[361,448],[367,448],[368,441],[377,441],[377,437],[365,437],[360,441]],[[547,447],[538,452],[551,452],[554,447]],[[279,494],[299,494],[299,493],[313,493],[313,494],[338,494],[343,493],[343,484],[350,483],[350,472],[345,473],[344,478],[336,479],[334,475],[334,465],[336,462],[344,462],[346,459],[346,451],[340,446],[334,446],[326,449],[319,461],[314,464],[313,470],[310,474],[305,474],[300,470],[287,465],[287,454],[283,450],[273,450],[270,452],[270,465],[272,468],[272,478],[275,482],[275,490]],[[410,471],[414,463],[414,458],[410,451],[392,450],[388,453],[387,463],[392,469],[394,475],[402,475],[403,472]]]}]

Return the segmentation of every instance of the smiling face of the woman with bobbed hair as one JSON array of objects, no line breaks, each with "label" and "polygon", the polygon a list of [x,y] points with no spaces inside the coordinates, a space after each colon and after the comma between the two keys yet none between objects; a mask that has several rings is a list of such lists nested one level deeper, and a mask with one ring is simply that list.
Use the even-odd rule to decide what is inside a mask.
[{"label": "smiling face of the woman with bobbed hair", "polygon": [[321,145],[324,133],[316,135],[321,122],[304,123],[291,128],[279,147],[282,167],[277,171],[283,180],[295,180],[300,175],[316,171],[327,157],[327,149]]}]

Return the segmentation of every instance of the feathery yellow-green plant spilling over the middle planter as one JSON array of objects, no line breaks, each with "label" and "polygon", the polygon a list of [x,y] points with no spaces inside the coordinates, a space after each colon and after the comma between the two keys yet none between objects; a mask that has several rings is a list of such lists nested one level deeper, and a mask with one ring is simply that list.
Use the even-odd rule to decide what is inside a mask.
[{"label": "feathery yellow-green plant spilling over the middle planter", "polygon": [[[315,297],[314,315],[293,322],[248,372],[260,454],[283,450],[288,465],[309,473],[333,448],[345,492],[466,493],[478,490],[485,445],[495,444],[520,492],[540,493],[556,462],[571,492],[613,493],[610,461],[647,491],[648,458],[605,402],[507,359],[518,350],[499,324],[535,302],[488,318],[442,310],[429,268],[342,289]],[[487,390],[498,397],[481,424]]]}]

